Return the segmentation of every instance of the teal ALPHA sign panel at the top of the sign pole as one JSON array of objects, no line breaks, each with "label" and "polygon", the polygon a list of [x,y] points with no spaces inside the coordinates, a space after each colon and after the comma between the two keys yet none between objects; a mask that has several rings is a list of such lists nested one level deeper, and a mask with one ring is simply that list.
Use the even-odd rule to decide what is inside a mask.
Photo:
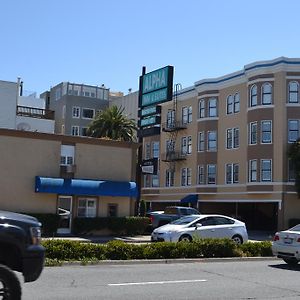
[{"label": "teal ALPHA sign panel at the top of the sign pole", "polygon": [[140,77],[139,107],[172,100],[174,67],[166,66]]}]

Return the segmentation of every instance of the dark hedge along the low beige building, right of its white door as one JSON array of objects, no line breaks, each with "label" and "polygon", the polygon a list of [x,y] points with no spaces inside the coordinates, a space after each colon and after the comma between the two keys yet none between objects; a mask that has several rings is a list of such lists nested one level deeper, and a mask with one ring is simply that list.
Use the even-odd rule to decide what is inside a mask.
[{"label": "dark hedge along the low beige building, right of its white door", "polygon": [[75,218],[73,231],[75,234],[87,234],[103,229],[112,234],[143,234],[150,224],[148,217],[104,217]]}]

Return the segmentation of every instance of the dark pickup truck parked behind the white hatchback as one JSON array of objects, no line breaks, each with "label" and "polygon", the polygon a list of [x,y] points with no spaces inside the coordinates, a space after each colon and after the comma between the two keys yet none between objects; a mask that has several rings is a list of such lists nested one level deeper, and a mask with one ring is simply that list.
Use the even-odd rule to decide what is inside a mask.
[{"label": "dark pickup truck parked behind the white hatchback", "polygon": [[150,220],[152,228],[157,228],[187,215],[200,215],[200,212],[192,207],[167,206],[164,211],[151,212]]}]

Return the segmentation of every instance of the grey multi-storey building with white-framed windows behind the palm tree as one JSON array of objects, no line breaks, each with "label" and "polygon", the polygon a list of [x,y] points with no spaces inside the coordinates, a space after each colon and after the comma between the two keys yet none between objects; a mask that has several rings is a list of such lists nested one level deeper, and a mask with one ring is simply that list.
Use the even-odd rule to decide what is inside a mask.
[{"label": "grey multi-storey building with white-framed windows behind the palm tree", "polygon": [[55,111],[55,133],[86,136],[96,114],[109,106],[109,89],[61,82],[40,95],[48,109]]}]

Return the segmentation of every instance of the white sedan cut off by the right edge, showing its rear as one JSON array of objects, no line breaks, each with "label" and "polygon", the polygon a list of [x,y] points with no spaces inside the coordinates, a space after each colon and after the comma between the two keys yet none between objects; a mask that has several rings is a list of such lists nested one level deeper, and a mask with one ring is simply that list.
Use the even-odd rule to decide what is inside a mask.
[{"label": "white sedan cut off by the right edge, showing its rear", "polygon": [[275,256],[282,258],[289,265],[296,265],[300,261],[300,224],[276,232],[272,242]]}]

